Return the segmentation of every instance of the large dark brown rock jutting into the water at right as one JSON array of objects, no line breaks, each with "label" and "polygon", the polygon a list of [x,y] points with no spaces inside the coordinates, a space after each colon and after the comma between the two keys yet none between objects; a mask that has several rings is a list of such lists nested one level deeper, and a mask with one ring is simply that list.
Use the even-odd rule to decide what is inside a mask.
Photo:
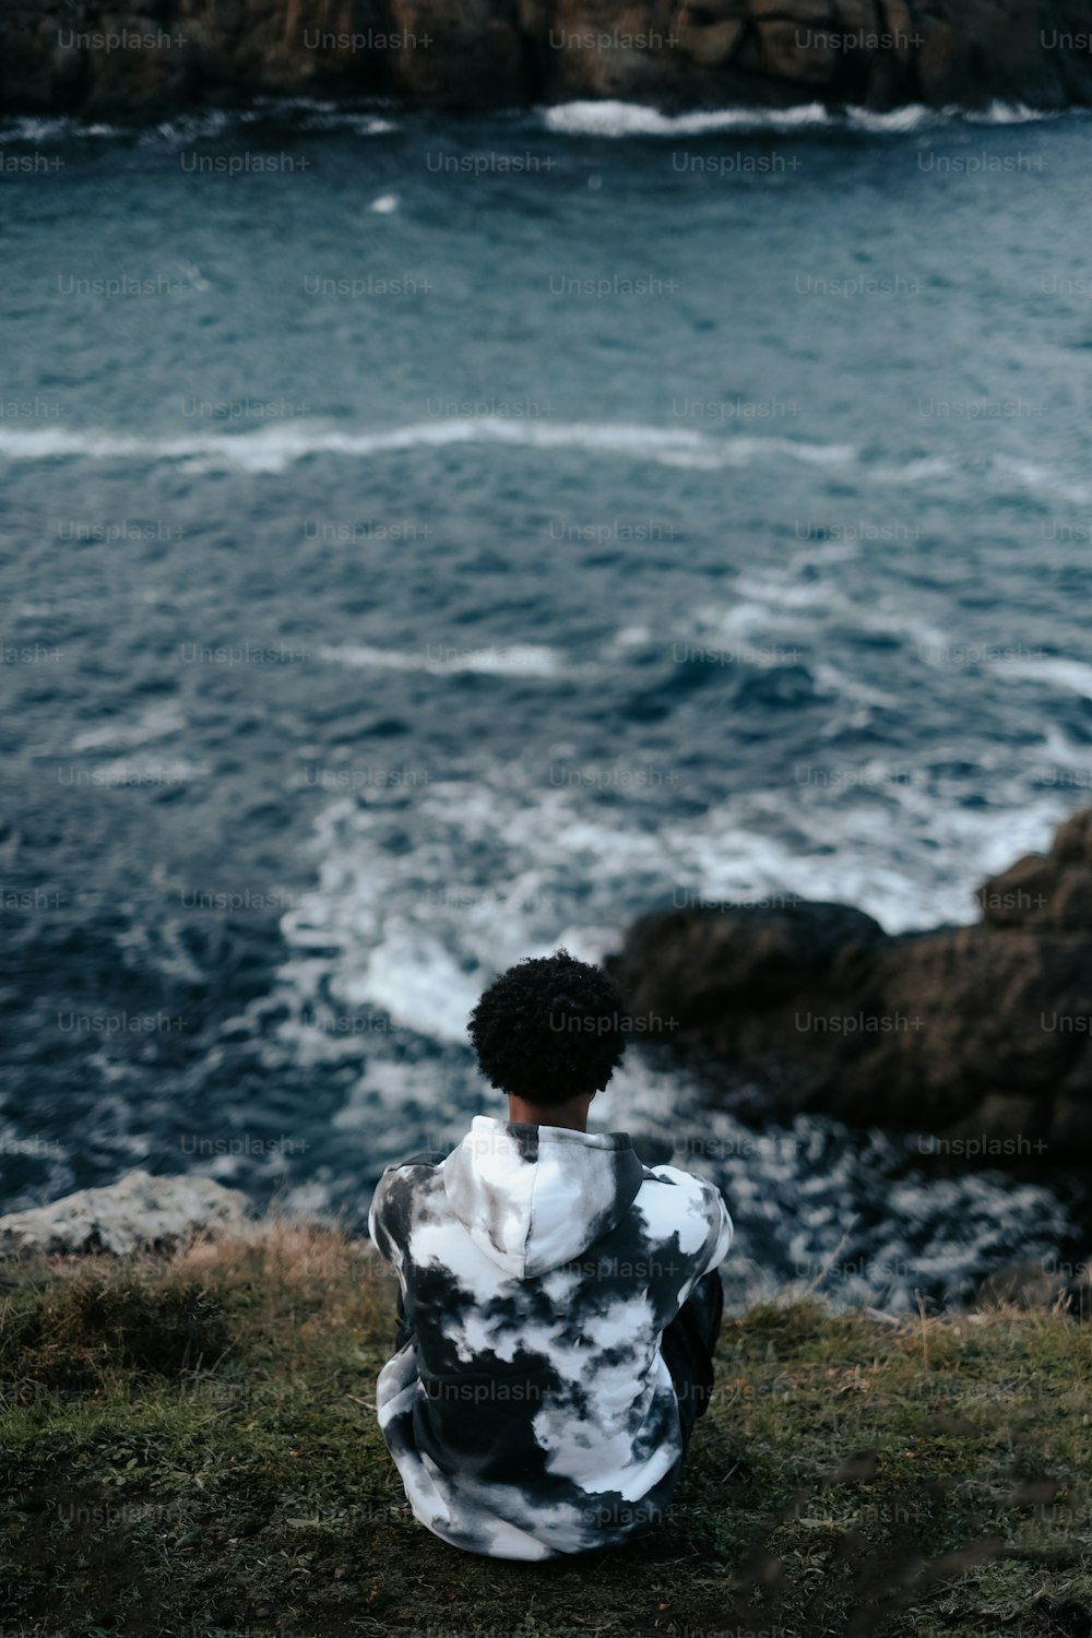
[{"label": "large dark brown rock jutting into the water at right", "polygon": [[977,898],[977,925],[899,937],[840,904],[653,912],[609,966],[771,1111],[933,1133],[922,1153],[959,1161],[1087,1165],[1092,809]]}]

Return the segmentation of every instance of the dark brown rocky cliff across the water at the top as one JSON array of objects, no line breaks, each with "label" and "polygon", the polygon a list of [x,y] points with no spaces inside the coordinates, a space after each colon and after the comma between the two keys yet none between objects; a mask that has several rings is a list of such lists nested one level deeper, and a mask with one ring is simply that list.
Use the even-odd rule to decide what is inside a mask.
[{"label": "dark brown rocky cliff across the water at the top", "polygon": [[1092,103],[1084,0],[0,0],[0,113]]}]

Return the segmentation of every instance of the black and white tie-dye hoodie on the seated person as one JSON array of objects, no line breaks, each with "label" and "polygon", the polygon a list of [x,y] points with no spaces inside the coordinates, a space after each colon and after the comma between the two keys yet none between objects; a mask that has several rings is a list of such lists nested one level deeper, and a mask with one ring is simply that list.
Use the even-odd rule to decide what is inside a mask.
[{"label": "black and white tie-dye hoodie on the seated person", "polygon": [[475,1115],[386,1168],[368,1232],[414,1330],[375,1396],[414,1517],[516,1559],[657,1523],[683,1456],[660,1338],[729,1250],[720,1191],[625,1132]]}]

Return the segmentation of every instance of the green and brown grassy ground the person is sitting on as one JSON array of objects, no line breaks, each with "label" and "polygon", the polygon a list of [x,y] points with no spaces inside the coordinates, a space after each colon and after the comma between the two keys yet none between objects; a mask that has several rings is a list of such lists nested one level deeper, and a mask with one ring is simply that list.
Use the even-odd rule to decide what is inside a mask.
[{"label": "green and brown grassy ground the person is sitting on", "polygon": [[393,1284],[275,1225],[0,1265],[0,1638],[1092,1633],[1092,1327],[725,1320],[668,1525],[544,1566],[417,1525],[373,1414]]}]

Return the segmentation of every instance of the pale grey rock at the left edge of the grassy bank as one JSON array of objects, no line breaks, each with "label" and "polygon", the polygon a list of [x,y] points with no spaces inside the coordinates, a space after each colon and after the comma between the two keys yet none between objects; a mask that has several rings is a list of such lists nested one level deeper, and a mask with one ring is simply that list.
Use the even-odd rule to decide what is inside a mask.
[{"label": "pale grey rock at the left edge of the grassy bank", "polygon": [[0,1253],[167,1251],[190,1233],[239,1233],[250,1201],[211,1178],[154,1178],[126,1171],[102,1189],[79,1189],[49,1206],[0,1217]]}]

